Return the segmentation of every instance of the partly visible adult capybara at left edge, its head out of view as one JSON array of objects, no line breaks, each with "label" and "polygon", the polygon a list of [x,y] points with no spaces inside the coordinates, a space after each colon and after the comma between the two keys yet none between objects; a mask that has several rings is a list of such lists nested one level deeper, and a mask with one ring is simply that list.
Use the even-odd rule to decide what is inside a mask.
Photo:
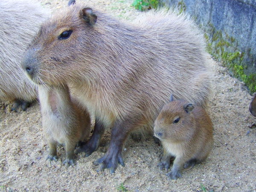
[{"label": "partly visible adult capybara at left edge, its head out of view", "polygon": [[23,110],[36,99],[36,86],[20,67],[20,60],[47,12],[27,0],[0,1],[0,101],[15,102]]}]

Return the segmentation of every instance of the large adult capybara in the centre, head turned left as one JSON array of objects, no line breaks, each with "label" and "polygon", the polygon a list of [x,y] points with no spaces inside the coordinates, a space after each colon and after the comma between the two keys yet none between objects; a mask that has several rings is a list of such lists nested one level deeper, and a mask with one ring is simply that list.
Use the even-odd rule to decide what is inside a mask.
[{"label": "large adult capybara in the centre, head turned left", "polygon": [[186,15],[151,11],[127,23],[74,4],[41,26],[22,65],[36,83],[70,84],[95,115],[93,135],[81,151],[91,154],[105,128],[112,128],[108,151],[95,164],[114,172],[117,163],[124,166],[128,134],[142,126],[152,130],[171,93],[207,105],[205,55],[204,37]]}]

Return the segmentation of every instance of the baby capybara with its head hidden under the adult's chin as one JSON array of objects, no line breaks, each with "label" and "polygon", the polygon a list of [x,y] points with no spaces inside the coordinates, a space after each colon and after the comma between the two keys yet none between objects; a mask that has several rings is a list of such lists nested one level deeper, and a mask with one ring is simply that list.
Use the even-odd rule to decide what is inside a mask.
[{"label": "baby capybara with its head hidden under the adult's chin", "polygon": [[90,133],[90,115],[70,98],[66,85],[38,85],[42,124],[49,145],[50,160],[57,160],[57,145],[64,144],[66,160],[74,164],[74,150],[79,142],[84,142]]}]

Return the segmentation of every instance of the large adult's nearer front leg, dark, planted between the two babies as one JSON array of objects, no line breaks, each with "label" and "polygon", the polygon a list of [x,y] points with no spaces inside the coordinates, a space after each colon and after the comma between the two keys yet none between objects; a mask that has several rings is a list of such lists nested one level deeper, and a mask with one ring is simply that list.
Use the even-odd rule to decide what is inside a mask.
[{"label": "large adult's nearer front leg, dark, planted between the two babies", "polygon": [[111,130],[111,141],[108,151],[104,157],[99,158],[93,163],[94,165],[99,165],[97,171],[103,171],[105,168],[107,168],[112,174],[115,172],[118,163],[125,166],[122,158],[122,147],[133,127],[134,123],[129,120],[116,120]]}]

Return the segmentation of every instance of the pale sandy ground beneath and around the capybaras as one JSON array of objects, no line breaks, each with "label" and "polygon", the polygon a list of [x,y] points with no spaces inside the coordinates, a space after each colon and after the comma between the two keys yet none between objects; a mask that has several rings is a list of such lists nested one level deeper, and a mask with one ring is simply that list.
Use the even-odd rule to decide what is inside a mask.
[{"label": "pale sandy ground beneath and around the capybaras", "polygon": [[[134,19],[140,12],[131,0],[95,0],[105,11],[122,19]],[[67,1],[41,0],[49,9],[60,9]],[[210,57],[209,57],[210,59]],[[27,111],[10,111],[0,104],[0,191],[256,191],[256,118],[250,115],[251,96],[243,83],[229,76],[227,69],[211,60],[214,75],[209,113],[214,125],[214,146],[209,157],[194,168],[182,171],[183,177],[169,180],[157,163],[162,147],[150,137],[128,139],[123,158],[125,167],[116,173],[96,172],[93,161],[108,148],[109,131],[99,149],[89,157],[79,154],[75,166],[49,162],[47,142],[42,133],[39,105]]]}]

